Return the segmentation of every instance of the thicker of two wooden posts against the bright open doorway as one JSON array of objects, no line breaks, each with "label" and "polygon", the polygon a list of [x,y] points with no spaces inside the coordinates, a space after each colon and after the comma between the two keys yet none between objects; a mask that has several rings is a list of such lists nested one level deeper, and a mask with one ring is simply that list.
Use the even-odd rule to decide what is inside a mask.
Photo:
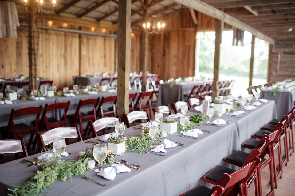
[{"label": "thicker of two wooden posts against the bright open doorway", "polygon": [[219,96],[218,79],[220,63],[220,44],[222,42],[223,21],[215,19],[215,54],[214,54],[214,75],[212,84],[212,98]]}]

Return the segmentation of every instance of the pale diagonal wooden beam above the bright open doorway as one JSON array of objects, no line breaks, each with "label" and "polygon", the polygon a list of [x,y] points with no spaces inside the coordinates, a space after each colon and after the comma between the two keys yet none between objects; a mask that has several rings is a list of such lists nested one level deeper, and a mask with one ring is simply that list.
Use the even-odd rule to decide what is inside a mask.
[{"label": "pale diagonal wooden beam above the bright open doorway", "polygon": [[218,20],[222,20],[223,22],[234,26],[238,29],[241,29],[243,31],[248,31],[252,35],[258,37],[261,40],[265,40],[271,44],[274,43],[274,39],[265,35],[264,33],[258,31],[257,29],[250,27],[249,25],[246,25],[242,21],[239,21],[238,19],[220,11],[219,9],[216,9],[212,6],[209,6],[208,4],[201,2],[201,1],[195,1],[195,0],[173,0],[177,3],[180,3],[184,6],[193,8],[197,10],[198,12],[204,13],[208,16],[214,17]]}]

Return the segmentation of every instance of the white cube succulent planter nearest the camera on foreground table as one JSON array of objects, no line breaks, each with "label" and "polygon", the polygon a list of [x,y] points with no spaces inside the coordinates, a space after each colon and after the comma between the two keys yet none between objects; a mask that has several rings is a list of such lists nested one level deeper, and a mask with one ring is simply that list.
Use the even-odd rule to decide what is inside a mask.
[{"label": "white cube succulent planter nearest the camera on foreground table", "polygon": [[126,137],[123,135],[115,135],[108,138],[108,148],[113,154],[122,154],[125,152]]}]

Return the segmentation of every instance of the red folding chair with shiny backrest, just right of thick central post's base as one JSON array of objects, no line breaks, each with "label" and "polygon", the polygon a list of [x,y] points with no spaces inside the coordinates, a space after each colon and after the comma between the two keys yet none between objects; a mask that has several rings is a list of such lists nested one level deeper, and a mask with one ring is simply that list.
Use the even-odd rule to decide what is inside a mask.
[{"label": "red folding chair with shiny backrest, just right of thick central post's base", "polygon": [[135,121],[140,120],[140,123],[143,123],[144,122],[143,120],[145,120],[146,122],[151,120],[150,116],[148,115],[147,110],[144,110],[144,111],[132,111],[129,114],[124,113],[122,115],[122,117],[123,117],[122,120],[126,124],[127,128],[131,127],[131,123],[132,123],[133,126],[135,126]]}]

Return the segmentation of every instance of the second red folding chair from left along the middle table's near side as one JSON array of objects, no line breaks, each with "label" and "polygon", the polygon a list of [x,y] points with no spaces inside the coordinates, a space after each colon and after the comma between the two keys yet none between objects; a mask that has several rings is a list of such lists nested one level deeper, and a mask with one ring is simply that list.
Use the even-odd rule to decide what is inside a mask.
[{"label": "second red folding chair from left along the middle table's near side", "polygon": [[[46,131],[57,128],[60,126],[67,126],[67,112],[69,110],[70,101],[68,102],[60,102],[60,103],[53,103],[53,104],[46,104],[43,110],[43,114],[39,123],[39,130],[42,129],[43,123],[45,123]],[[61,120],[57,120],[53,117],[47,117],[46,113],[49,111],[61,110],[64,109],[63,116]]]}]

